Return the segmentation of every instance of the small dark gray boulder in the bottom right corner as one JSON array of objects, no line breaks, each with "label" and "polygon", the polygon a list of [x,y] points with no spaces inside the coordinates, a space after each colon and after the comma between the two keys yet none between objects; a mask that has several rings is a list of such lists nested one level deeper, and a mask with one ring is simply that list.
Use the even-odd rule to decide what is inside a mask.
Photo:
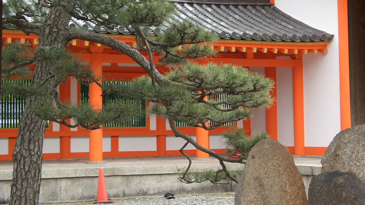
[{"label": "small dark gray boulder in the bottom right corner", "polygon": [[365,185],[352,172],[324,172],[312,178],[308,205],[365,205]]}]

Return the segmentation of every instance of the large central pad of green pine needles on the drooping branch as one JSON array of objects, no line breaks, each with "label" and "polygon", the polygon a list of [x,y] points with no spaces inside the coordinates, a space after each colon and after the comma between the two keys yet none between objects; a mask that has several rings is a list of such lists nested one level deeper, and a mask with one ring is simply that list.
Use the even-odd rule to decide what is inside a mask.
[{"label": "large central pad of green pine needles on the drooping branch", "polygon": [[[158,102],[150,107],[150,113],[165,118],[172,116],[175,121],[194,127],[214,129],[246,119],[252,117],[250,108],[269,107],[273,102],[269,93],[272,80],[240,66],[185,63],[170,70],[165,77],[171,82],[168,86],[152,86],[146,76],[135,79],[131,86],[136,96]],[[228,94],[228,97],[225,101],[204,100],[218,94]],[[206,121],[214,125],[199,125]]]}]

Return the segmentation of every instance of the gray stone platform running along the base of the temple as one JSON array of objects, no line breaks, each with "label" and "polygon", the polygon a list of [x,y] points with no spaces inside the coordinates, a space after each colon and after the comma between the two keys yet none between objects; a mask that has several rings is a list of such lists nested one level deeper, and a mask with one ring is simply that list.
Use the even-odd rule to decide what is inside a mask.
[{"label": "gray stone platform running along the base of the temple", "polygon": [[[313,176],[320,173],[320,158],[294,157],[308,189]],[[203,194],[234,192],[235,183],[212,185],[210,182],[185,184],[178,181],[177,169],[188,165],[183,157],[105,159],[102,164],[87,164],[86,159],[44,160],[39,202],[93,200],[96,198],[99,167],[104,170],[109,198],[165,194]],[[225,163],[230,170],[243,165]],[[191,170],[220,169],[219,161],[193,160]],[[12,162],[0,163],[0,204],[10,197]],[[307,190],[306,190],[307,191]]]}]

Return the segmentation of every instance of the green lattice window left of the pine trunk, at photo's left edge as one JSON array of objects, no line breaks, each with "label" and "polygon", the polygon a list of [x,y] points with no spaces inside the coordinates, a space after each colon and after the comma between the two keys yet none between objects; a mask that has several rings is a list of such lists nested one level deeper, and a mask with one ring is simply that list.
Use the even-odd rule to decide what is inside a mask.
[{"label": "green lattice window left of the pine trunk, at photo's left edge", "polygon": [[[20,81],[29,86],[30,80],[1,80],[1,84]],[[0,128],[18,128],[26,98],[12,94],[0,95]]]}]

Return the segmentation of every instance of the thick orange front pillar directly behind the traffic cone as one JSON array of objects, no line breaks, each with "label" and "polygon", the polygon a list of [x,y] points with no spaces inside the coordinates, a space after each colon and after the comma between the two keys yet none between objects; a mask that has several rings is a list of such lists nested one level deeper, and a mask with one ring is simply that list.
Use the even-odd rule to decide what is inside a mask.
[{"label": "thick orange front pillar directly behind the traffic cone", "polygon": [[[89,66],[95,74],[102,74],[101,70],[101,55],[92,54]],[[101,83],[101,79],[99,81]],[[101,109],[103,107],[103,98],[101,88],[95,83],[89,85],[89,103],[94,109]],[[89,131],[89,161],[102,162],[103,161],[103,129],[95,129]]]}]

